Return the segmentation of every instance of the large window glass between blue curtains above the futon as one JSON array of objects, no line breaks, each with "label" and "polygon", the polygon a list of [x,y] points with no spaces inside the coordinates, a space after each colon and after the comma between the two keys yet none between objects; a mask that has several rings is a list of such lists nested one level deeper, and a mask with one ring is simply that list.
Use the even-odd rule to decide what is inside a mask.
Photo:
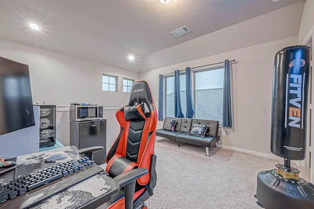
[{"label": "large window glass between blue curtains above the futon", "polygon": [[[192,86],[195,113],[198,119],[222,122],[224,67],[194,71]],[[181,107],[186,115],[185,74],[180,75]],[[165,77],[165,116],[175,116],[174,76]]]}]

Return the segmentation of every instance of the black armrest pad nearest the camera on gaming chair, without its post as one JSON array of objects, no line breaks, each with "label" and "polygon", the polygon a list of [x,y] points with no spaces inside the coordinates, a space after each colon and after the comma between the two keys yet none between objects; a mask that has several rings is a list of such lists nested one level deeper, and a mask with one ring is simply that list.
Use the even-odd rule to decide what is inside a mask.
[{"label": "black armrest pad nearest the camera on gaming chair, without its post", "polygon": [[113,179],[118,183],[118,185],[120,185],[120,187],[122,187],[130,184],[132,181],[135,181],[136,179],[144,176],[147,173],[148,170],[146,168],[136,168],[123,174],[120,174],[114,177]]}]

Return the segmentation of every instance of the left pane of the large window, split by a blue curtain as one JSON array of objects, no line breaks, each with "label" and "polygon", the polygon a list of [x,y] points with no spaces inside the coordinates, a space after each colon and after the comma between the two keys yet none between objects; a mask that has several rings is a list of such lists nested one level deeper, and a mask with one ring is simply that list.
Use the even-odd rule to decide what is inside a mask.
[{"label": "left pane of the large window, split by a blue curtain", "polygon": [[[174,91],[175,91],[175,77],[168,76],[165,78],[165,106],[166,106],[166,116],[174,117],[175,116],[175,98],[174,98]],[[181,108],[182,113],[185,116],[186,113],[186,97],[185,97],[185,74],[180,74],[180,98],[181,98]]]}]

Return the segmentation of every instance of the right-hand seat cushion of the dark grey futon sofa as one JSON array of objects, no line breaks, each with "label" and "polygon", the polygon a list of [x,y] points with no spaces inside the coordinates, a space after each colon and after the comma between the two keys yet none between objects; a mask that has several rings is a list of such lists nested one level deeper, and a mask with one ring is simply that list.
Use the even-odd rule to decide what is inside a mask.
[{"label": "right-hand seat cushion of the dark grey futon sofa", "polygon": [[179,134],[176,138],[177,141],[194,144],[197,146],[211,147],[217,142],[217,138],[206,136],[204,138],[188,135],[187,133]]}]

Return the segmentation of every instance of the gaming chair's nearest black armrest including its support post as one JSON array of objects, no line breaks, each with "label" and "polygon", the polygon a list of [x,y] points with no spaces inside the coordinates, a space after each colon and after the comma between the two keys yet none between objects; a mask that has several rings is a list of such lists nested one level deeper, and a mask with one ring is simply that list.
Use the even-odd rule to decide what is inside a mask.
[{"label": "gaming chair's nearest black armrest including its support post", "polygon": [[133,209],[136,179],[148,173],[146,168],[136,168],[113,178],[120,187],[124,186],[125,209]]}]

